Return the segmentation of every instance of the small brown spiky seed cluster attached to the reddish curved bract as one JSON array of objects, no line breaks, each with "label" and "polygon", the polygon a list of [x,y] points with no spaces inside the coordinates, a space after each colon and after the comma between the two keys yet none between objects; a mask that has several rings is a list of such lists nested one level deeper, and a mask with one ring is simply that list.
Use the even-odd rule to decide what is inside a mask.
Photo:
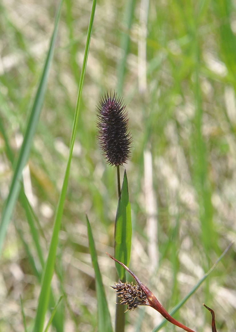
[{"label": "small brown spiky seed cluster attached to the reddish curved bract", "polygon": [[127,310],[134,310],[138,305],[149,305],[145,293],[137,284],[130,284],[128,282],[122,283],[119,281],[119,283],[115,283],[111,288],[113,288],[118,297],[120,297],[120,303],[128,305]]}]

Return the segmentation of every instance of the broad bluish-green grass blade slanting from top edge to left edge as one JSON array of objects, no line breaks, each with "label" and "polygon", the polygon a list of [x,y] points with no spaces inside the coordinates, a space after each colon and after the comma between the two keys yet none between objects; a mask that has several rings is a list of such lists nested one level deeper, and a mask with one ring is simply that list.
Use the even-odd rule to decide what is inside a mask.
[{"label": "broad bluish-green grass blade slanting from top edge to left edge", "polygon": [[53,58],[53,52],[55,48],[57,32],[58,32],[58,25],[59,25],[59,15],[60,15],[60,8],[61,8],[62,0],[60,1],[60,5],[58,8],[56,20],[55,20],[55,27],[54,32],[51,38],[50,47],[48,50],[48,55],[45,61],[43,74],[39,83],[39,87],[36,93],[36,97],[34,100],[34,104],[31,110],[30,118],[26,127],[26,132],[24,135],[24,140],[19,152],[19,156],[14,167],[13,178],[9,190],[9,194],[7,200],[5,202],[5,206],[3,208],[1,223],[0,223],[0,253],[3,247],[4,238],[7,232],[8,225],[10,223],[13,210],[19,195],[19,191],[21,188],[21,179],[22,179],[22,170],[25,167],[27,160],[30,154],[30,148],[33,142],[33,137],[37,128],[37,124],[39,122],[39,116],[41,114],[45,91],[47,87],[48,77],[49,77],[49,70],[50,65]]}]

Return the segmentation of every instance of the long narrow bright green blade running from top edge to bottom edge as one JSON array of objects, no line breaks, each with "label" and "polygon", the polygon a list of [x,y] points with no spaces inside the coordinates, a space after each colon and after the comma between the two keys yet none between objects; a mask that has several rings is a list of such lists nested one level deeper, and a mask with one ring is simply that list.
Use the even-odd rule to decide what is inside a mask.
[{"label": "long narrow bright green blade running from top edge to bottom edge", "polygon": [[93,20],[94,20],[94,15],[95,15],[95,8],[96,8],[96,0],[93,0],[92,10],[91,10],[91,15],[90,15],[90,20],[89,20],[89,26],[88,26],[87,41],[86,41],[85,51],[84,51],[83,66],[82,66],[82,71],[81,71],[81,76],[80,76],[80,81],[79,81],[78,97],[77,97],[77,102],[76,102],[74,122],[73,122],[73,128],[72,128],[72,133],[71,133],[70,145],[69,145],[69,156],[68,156],[68,160],[67,160],[67,164],[66,164],[64,180],[63,180],[62,189],[61,189],[61,193],[60,193],[60,197],[59,197],[59,203],[58,203],[58,207],[57,207],[57,211],[56,211],[55,222],[54,222],[54,227],[53,227],[53,234],[52,234],[52,239],[51,239],[50,248],[49,248],[49,254],[48,254],[48,258],[47,258],[47,262],[46,262],[45,270],[44,270],[44,274],[43,274],[43,279],[42,279],[42,287],[41,287],[41,292],[40,292],[40,296],[39,296],[34,332],[43,331],[45,315],[46,315],[48,302],[49,302],[50,286],[51,286],[51,280],[52,280],[53,273],[54,273],[59,230],[60,230],[63,206],[64,206],[64,201],[65,201],[66,191],[67,191],[67,186],[68,186],[68,181],[69,181],[70,164],[71,164],[72,152],[73,152],[73,147],[74,147],[74,142],[75,142],[75,135],[76,135],[76,131],[77,131],[77,124],[78,124],[78,118],[79,118],[79,105],[80,105],[80,99],[81,99],[81,94],[82,94],[86,64],[87,64],[87,59],[88,59],[89,45],[90,45],[90,40],[91,40],[91,35],[92,35],[92,25],[93,25]]}]

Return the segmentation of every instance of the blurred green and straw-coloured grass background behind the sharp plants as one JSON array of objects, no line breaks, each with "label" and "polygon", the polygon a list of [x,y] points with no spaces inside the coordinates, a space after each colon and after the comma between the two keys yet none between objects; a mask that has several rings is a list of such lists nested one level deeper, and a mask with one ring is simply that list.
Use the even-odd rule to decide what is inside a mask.
[{"label": "blurred green and straw-coloured grass background behind the sharp plants", "polygon": [[[130,268],[170,310],[236,238],[236,11],[234,1],[98,1],[81,113],[64,206],[56,300],[58,331],[96,331],[94,272],[85,213],[92,225],[112,319],[117,207],[115,169],[96,141],[96,103],[106,90],[124,98],[133,135],[127,176],[132,208]],[[0,3],[0,205],[17,156],[53,30],[56,1]],[[47,257],[64,176],[91,1],[64,0],[49,84],[23,175]],[[123,172],[122,175],[123,177]],[[235,244],[175,317],[200,332],[236,330]],[[0,331],[35,318],[40,282],[25,210],[18,203],[0,257]],[[152,308],[126,313],[127,332],[152,331]],[[54,327],[51,328],[55,330]],[[167,324],[162,331],[177,331]]]}]

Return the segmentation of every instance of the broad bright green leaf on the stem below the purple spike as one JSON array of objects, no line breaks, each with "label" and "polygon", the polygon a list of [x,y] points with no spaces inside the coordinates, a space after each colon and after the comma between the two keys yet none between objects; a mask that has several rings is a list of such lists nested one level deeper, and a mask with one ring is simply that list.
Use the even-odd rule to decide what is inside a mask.
[{"label": "broad bright green leaf on the stem below the purple spike", "polygon": [[[115,222],[115,258],[129,265],[131,255],[132,223],[131,207],[126,171],[124,173],[121,195],[118,202]],[[116,263],[116,270],[121,280],[125,277],[125,270]]]}]

